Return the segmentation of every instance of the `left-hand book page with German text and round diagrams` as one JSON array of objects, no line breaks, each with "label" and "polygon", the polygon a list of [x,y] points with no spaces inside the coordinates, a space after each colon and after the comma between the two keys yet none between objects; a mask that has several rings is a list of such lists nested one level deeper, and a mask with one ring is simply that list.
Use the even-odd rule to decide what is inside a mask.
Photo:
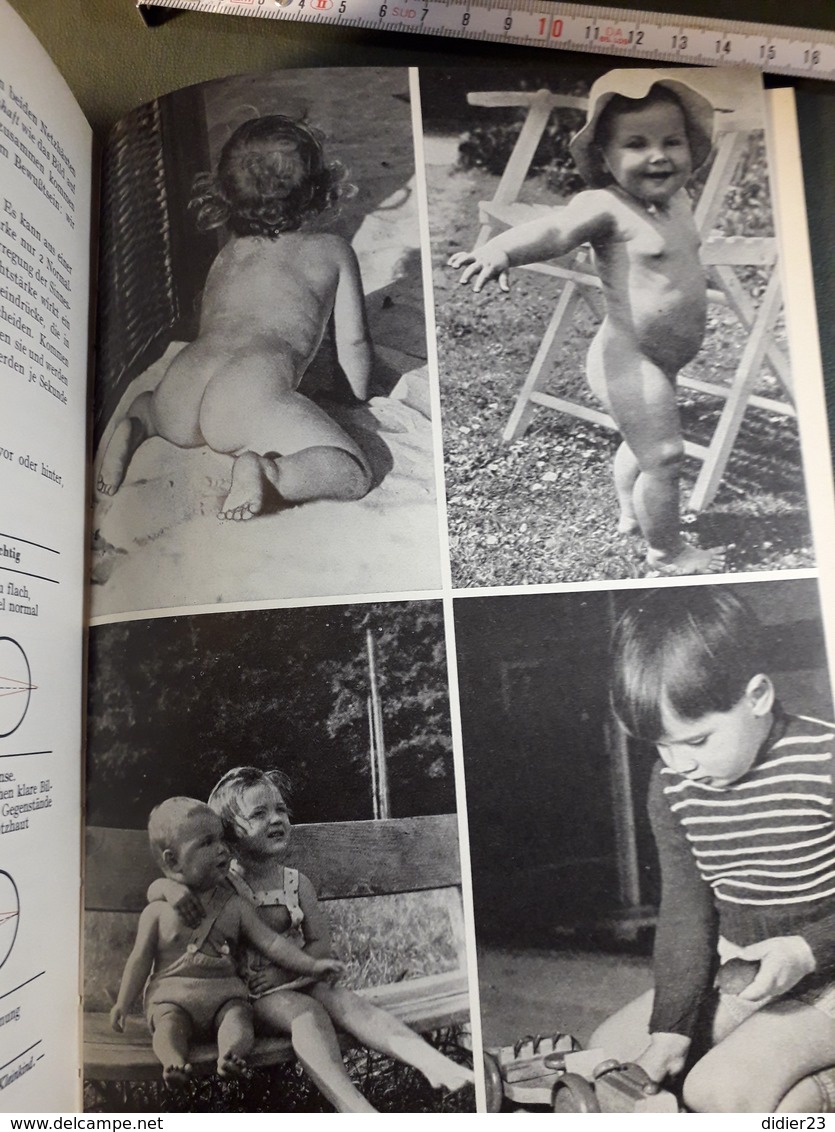
[{"label": "left-hand book page with German text and round diagrams", "polygon": [[0,1110],[78,1094],[92,134],[0,7]]}]

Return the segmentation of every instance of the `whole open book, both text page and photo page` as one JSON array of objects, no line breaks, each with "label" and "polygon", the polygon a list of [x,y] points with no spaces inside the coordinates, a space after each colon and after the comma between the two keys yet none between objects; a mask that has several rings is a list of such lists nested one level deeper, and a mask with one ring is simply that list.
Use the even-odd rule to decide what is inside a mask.
[{"label": "whole open book, both text page and photo page", "polygon": [[[791,92],[636,93],[600,60],[251,75],[138,109],[100,162],[0,28],[0,1107],[686,1103],[672,1055],[660,1100],[594,1072],[652,1069],[601,1026],[675,970],[651,777],[742,805],[781,721],[833,714]],[[756,739],[730,771],[610,700],[614,626],[694,594],[764,643],[750,713],[712,707],[743,715],[734,757]],[[774,934],[807,996],[817,779],[774,803],[817,806],[808,860],[708,868],[690,910],[797,901]]]}]

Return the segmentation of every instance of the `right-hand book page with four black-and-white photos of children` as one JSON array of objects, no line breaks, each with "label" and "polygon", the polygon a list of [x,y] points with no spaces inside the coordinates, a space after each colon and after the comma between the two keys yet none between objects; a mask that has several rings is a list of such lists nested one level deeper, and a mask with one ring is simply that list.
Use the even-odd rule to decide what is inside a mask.
[{"label": "right-hand book page with four black-and-white photos of children", "polygon": [[[406,79],[222,79],[105,161],[85,1106],[802,1110],[794,1050],[833,1061],[803,1019],[835,978],[835,507],[791,108],[751,70],[606,59]],[[311,204],[332,162],[336,212]],[[346,245],[368,398],[329,306]],[[189,880],[193,823],[222,848]],[[425,917],[418,873],[454,890]],[[346,964],[336,995],[247,964],[235,1056],[284,1063],[269,1092],[229,1080],[207,988],[172,986],[183,886],[205,924],[241,880]],[[724,962],[757,1002],[718,998]],[[422,979],[454,992],[448,1027],[410,1015],[448,1032],[442,1078],[411,1046],[389,1086],[395,1022],[359,1004],[405,1017]],[[321,1075],[287,1047],[309,995],[356,1039]],[[466,1083],[467,1041],[475,1097],[427,1089]]]}]

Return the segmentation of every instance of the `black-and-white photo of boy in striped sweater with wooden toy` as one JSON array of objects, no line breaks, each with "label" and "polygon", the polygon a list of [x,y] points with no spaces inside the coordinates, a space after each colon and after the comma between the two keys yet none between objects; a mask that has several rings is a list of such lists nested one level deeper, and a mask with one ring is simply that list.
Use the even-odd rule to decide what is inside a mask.
[{"label": "black-and-white photo of boy in striped sweater with wooden toy", "polygon": [[829,1112],[816,582],[455,603],[488,1110]]}]

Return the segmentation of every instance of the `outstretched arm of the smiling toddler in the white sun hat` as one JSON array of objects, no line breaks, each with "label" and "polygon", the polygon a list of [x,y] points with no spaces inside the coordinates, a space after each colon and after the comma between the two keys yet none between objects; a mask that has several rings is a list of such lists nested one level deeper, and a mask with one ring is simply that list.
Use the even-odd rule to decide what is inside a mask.
[{"label": "outstretched arm of the smiling toddler in the white sun hat", "polygon": [[460,282],[472,280],[473,291],[481,291],[492,278],[507,291],[510,267],[554,259],[582,243],[601,240],[611,231],[613,222],[608,192],[579,192],[570,204],[551,209],[546,216],[508,229],[473,251],[456,252],[449,266],[464,267]]}]

